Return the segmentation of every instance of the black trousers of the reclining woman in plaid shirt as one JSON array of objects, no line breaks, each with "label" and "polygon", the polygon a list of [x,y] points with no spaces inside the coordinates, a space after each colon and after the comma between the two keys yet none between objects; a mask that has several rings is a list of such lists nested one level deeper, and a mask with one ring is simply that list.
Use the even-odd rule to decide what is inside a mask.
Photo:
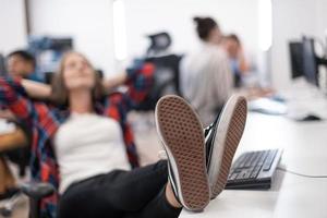
[{"label": "black trousers of the reclining woman in plaid shirt", "polygon": [[181,209],[167,202],[167,161],[132,171],[114,170],[72,184],[59,202],[60,218],[174,218]]}]

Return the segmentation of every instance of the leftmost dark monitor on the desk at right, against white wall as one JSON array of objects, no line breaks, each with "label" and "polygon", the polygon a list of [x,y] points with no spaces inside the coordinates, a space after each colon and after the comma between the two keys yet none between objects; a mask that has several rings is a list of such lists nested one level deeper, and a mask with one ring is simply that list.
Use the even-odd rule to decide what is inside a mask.
[{"label": "leftmost dark monitor on the desk at right, against white wall", "polygon": [[303,44],[301,41],[290,41],[289,50],[292,78],[303,76]]}]

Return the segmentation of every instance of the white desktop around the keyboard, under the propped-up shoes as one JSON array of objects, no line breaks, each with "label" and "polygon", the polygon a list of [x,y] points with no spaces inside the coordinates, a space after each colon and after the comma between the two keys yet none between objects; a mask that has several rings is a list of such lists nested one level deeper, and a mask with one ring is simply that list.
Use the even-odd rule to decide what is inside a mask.
[{"label": "white desktop around the keyboard, under the propped-up shoes", "polygon": [[[305,174],[327,175],[327,121],[295,122],[250,113],[237,156],[252,149],[282,148],[280,165]],[[308,179],[277,170],[269,191],[223,191],[204,213],[183,210],[181,218],[327,217],[327,179]]]}]

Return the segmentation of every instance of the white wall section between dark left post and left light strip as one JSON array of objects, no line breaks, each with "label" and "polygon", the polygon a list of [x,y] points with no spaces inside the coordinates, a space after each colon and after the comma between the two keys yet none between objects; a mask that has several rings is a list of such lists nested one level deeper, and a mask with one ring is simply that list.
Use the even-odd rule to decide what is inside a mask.
[{"label": "white wall section between dark left post and left light strip", "polygon": [[114,72],[111,0],[31,0],[33,35],[72,36],[95,68]]}]

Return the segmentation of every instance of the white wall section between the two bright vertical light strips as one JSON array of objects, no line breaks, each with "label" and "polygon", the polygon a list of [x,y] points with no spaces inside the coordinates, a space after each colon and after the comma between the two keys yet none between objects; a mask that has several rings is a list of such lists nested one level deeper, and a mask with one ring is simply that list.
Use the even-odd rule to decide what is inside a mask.
[{"label": "white wall section between the two bright vertical light strips", "polygon": [[128,55],[143,55],[148,34],[167,31],[172,51],[187,52],[197,46],[192,17],[213,16],[226,33],[237,33],[251,52],[258,48],[258,0],[124,0]]}]

